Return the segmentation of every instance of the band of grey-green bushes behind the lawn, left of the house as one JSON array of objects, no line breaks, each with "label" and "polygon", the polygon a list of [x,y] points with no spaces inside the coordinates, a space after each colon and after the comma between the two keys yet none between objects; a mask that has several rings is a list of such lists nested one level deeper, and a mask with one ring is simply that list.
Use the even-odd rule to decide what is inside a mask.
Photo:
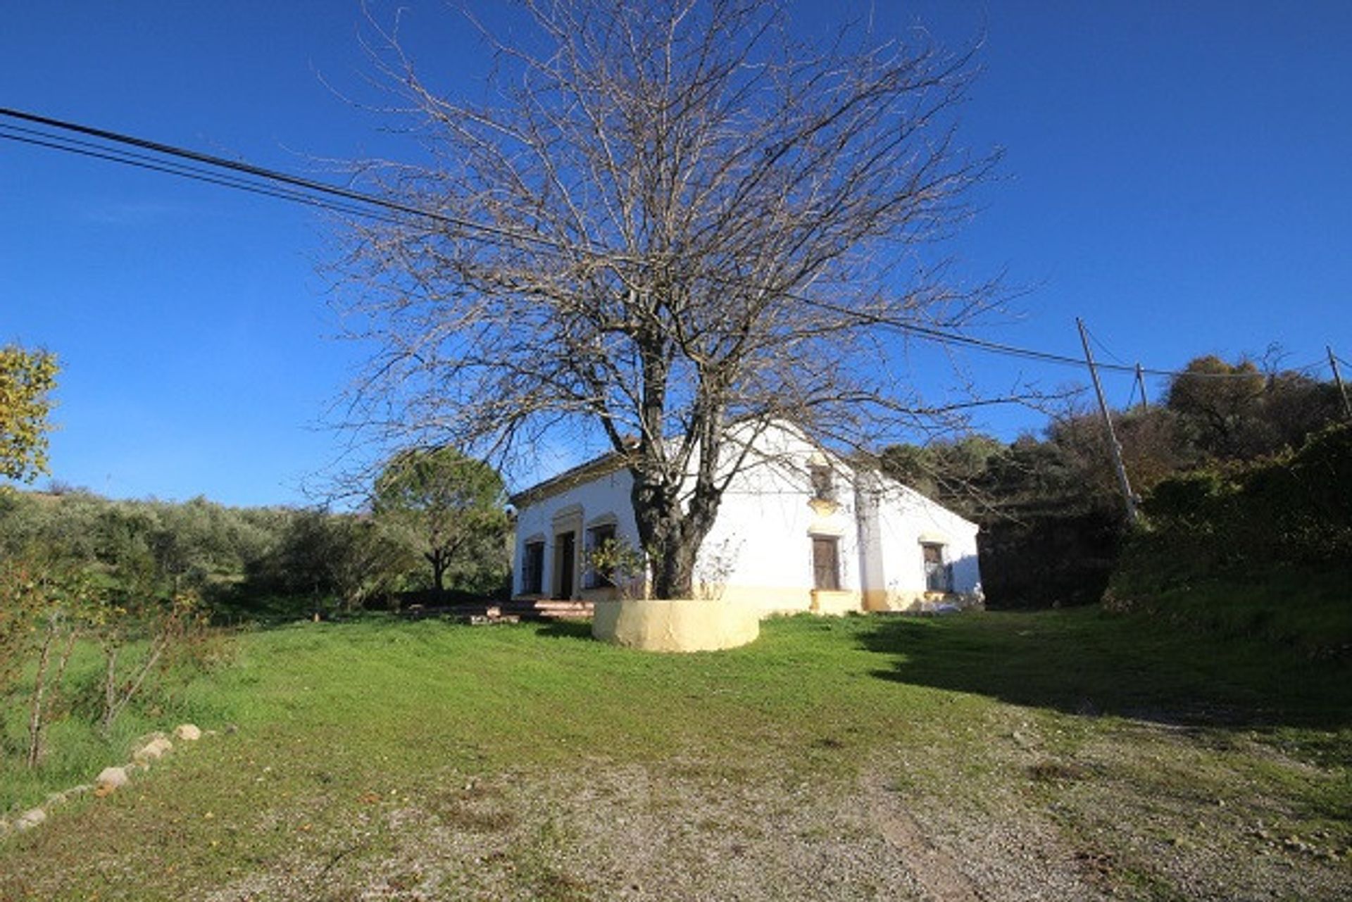
[{"label": "band of grey-green bushes behind the lawn, left of the house", "polygon": [[203,498],[0,495],[0,559],[31,549],[108,591],[161,602],[196,592],[206,610],[228,619],[350,613],[415,588],[420,575],[418,553],[369,515],[235,508]]}]

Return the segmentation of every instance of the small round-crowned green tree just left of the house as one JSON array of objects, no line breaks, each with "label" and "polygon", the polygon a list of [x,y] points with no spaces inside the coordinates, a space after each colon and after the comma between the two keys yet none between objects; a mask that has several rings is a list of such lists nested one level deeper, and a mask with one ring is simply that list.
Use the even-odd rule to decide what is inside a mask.
[{"label": "small round-crowned green tree just left of the house", "polygon": [[431,565],[433,587],[443,592],[456,564],[479,572],[506,565],[503,502],[502,476],[488,464],[454,448],[411,449],[376,480],[373,513],[419,549]]}]

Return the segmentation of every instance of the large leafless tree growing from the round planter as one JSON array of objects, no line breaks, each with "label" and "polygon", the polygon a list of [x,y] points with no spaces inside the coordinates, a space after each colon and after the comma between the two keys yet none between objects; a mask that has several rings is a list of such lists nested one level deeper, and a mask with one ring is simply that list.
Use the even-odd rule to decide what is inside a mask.
[{"label": "large leafless tree growing from the round planter", "polygon": [[483,103],[380,32],[425,162],[361,173],[437,219],[353,224],[346,312],[380,352],[350,412],[502,461],[599,429],[634,479],[653,594],[688,596],[737,467],[729,423],[863,444],[934,414],[898,377],[898,327],[957,327],[990,299],[925,262],[994,162],[955,145],[971,54],[859,28],[803,43],[758,0],[523,12],[510,42],[481,27]]}]

